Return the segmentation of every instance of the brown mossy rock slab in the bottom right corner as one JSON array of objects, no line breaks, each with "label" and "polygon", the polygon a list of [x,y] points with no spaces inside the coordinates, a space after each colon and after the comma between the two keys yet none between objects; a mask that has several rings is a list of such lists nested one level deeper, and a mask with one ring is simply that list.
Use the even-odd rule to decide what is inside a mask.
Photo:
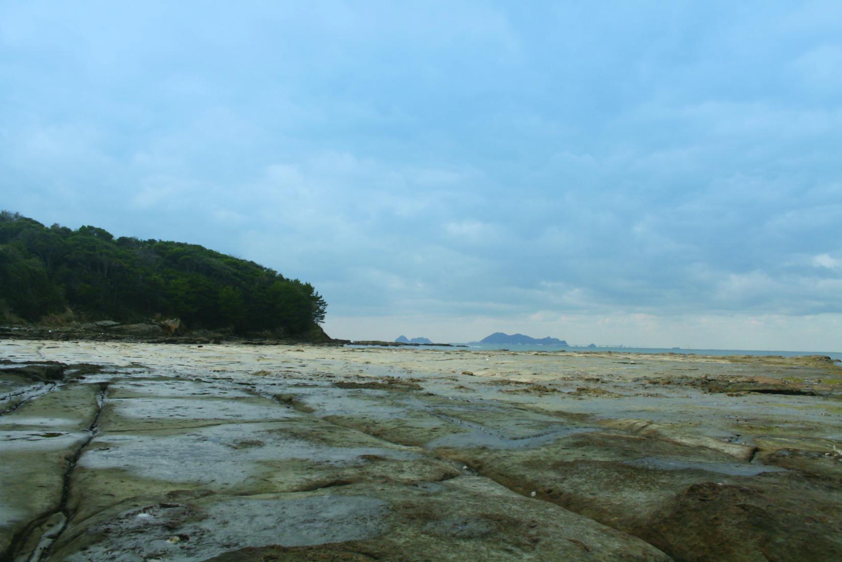
[{"label": "brown mossy rock slab in the bottom right corner", "polygon": [[530,449],[437,452],[511,490],[643,538],[676,559],[842,554],[836,507],[842,490],[834,480],[735,462],[715,449],[590,432]]}]

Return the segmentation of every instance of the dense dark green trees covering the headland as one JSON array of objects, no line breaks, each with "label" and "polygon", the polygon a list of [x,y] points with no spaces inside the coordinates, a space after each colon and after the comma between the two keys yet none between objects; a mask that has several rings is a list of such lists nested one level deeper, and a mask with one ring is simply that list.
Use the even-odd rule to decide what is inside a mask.
[{"label": "dense dark green trees covering the headland", "polygon": [[67,308],[90,319],[177,316],[191,328],[297,334],[324,320],[326,303],[311,284],[195,244],[0,212],[0,319]]}]

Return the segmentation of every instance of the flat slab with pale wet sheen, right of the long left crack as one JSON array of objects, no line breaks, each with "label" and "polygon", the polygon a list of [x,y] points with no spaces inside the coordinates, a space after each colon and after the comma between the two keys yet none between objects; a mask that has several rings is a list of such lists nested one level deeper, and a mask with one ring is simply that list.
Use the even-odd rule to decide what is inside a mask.
[{"label": "flat slab with pale wet sheen, right of the long left crack", "polygon": [[[443,480],[454,463],[297,414],[286,422],[109,432],[103,425],[73,471],[79,517],[127,497],[169,490],[261,494],[364,480]],[[119,424],[124,427],[123,423]]]}]

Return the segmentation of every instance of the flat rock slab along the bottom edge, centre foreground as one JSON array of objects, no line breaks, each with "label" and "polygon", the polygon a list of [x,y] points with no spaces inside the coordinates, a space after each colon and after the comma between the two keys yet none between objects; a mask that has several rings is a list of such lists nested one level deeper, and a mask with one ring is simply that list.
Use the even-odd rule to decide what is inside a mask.
[{"label": "flat rock slab along the bottom edge, centre foreground", "polygon": [[71,525],[49,560],[198,562],[271,556],[669,560],[637,538],[471,476],[259,496],[173,492],[134,498]]}]

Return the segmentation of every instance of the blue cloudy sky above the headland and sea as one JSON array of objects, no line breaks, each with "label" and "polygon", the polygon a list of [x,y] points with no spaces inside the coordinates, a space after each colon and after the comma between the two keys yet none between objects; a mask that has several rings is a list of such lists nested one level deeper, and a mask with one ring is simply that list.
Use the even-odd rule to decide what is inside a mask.
[{"label": "blue cloudy sky above the headland and sea", "polygon": [[0,0],[0,208],[333,337],[842,351],[842,3]]}]

